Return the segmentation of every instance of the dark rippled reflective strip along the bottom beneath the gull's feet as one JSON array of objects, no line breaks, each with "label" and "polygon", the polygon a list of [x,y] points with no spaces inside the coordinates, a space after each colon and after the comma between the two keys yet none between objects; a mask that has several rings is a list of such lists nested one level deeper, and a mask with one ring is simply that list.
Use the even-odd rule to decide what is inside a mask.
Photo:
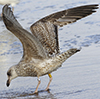
[{"label": "dark rippled reflective strip along the bottom beneath the gull's feet", "polygon": [[[88,89],[87,89],[88,90]],[[76,90],[76,91],[72,91],[72,92],[54,92],[52,93],[50,90],[48,91],[44,91],[44,90],[40,90],[38,91],[37,94],[34,94],[33,92],[15,92],[13,90],[10,90],[10,92],[7,91],[2,91],[0,93],[0,98],[25,98],[25,99],[58,99],[56,96],[61,95],[61,98],[63,98],[63,96],[65,95],[72,95],[72,94],[79,94],[82,93],[86,90]],[[60,99],[61,99],[60,98]]]}]

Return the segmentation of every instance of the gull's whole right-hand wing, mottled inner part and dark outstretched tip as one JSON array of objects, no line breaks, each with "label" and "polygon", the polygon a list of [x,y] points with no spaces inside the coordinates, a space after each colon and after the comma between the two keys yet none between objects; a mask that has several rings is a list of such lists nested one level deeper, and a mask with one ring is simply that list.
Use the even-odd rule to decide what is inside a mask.
[{"label": "gull's whole right-hand wing, mottled inner part and dark outstretched tip", "polygon": [[96,12],[95,9],[97,8],[98,5],[96,4],[63,10],[40,19],[30,29],[33,35],[42,43],[48,56],[57,54],[59,52],[58,26],[76,22]]}]

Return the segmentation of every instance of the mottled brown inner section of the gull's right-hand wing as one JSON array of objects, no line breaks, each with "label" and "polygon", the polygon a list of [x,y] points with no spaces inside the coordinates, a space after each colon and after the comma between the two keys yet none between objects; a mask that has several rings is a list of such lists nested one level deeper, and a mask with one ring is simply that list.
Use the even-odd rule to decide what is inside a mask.
[{"label": "mottled brown inner section of the gull's right-hand wing", "polygon": [[37,22],[31,26],[33,35],[39,39],[48,56],[59,53],[58,28],[50,22]]}]

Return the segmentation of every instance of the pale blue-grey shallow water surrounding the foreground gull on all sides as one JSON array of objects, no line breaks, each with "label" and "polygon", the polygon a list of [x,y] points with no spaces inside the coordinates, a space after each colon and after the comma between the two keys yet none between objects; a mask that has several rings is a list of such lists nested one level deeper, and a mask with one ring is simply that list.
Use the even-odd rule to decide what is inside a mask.
[{"label": "pale blue-grey shallow water surrounding the foreground gull on all sides", "polygon": [[[21,0],[14,14],[22,26],[29,30],[40,18],[71,7],[99,3],[99,0]],[[0,6],[2,8],[2,6]],[[52,73],[50,91],[43,91],[49,81],[41,77],[38,95],[33,95],[37,78],[22,77],[6,87],[8,68],[22,57],[22,45],[0,19],[0,99],[99,99],[100,98],[100,10],[74,24],[59,28],[61,51],[82,47],[81,51]],[[29,30],[30,31],[30,30]]]}]

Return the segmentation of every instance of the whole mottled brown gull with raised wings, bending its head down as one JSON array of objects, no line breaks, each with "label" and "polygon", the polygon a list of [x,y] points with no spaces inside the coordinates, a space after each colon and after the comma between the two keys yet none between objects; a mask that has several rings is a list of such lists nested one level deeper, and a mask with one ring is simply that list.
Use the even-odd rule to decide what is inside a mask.
[{"label": "whole mottled brown gull with raised wings, bending its head down", "polygon": [[79,6],[53,13],[32,24],[30,27],[32,33],[30,33],[16,20],[11,8],[5,5],[2,9],[3,22],[23,46],[22,59],[7,71],[7,87],[16,77],[37,77],[38,84],[34,93],[38,93],[41,83],[40,76],[47,74],[50,80],[45,90],[48,90],[52,81],[51,73],[61,67],[69,57],[80,51],[80,49],[71,48],[60,52],[58,26],[76,22],[96,12],[96,9],[98,9],[98,4]]}]

